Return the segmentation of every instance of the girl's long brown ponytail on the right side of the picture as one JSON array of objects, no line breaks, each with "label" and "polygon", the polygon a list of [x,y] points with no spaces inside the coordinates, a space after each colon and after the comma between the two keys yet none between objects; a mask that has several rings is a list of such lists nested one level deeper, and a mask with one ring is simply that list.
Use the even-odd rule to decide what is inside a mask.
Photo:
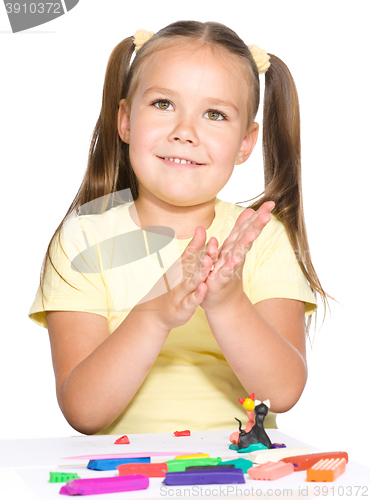
[{"label": "girl's long brown ponytail on the right side of the picture", "polygon": [[[272,54],[269,56],[271,66],[265,73],[262,137],[265,191],[252,208],[257,210],[265,201],[275,202],[273,214],[283,222],[298,264],[315,297],[316,292],[321,295],[325,318],[330,295],[324,292],[311,261],[303,212],[297,89],[283,61]],[[310,324],[311,316],[307,332]]]}]

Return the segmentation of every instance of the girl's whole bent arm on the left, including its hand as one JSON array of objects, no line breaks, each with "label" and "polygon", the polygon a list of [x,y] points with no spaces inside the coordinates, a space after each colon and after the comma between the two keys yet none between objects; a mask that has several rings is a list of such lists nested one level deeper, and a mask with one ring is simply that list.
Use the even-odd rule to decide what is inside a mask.
[{"label": "girl's whole bent arm on the left, including its hand", "polygon": [[[182,281],[136,305],[112,334],[107,319],[97,314],[46,313],[59,406],[76,430],[94,434],[113,422],[143,383],[171,329],[192,317],[205,297],[212,264],[203,262],[205,240],[204,228],[197,229],[181,256]],[[178,269],[173,265],[166,275]]]}]

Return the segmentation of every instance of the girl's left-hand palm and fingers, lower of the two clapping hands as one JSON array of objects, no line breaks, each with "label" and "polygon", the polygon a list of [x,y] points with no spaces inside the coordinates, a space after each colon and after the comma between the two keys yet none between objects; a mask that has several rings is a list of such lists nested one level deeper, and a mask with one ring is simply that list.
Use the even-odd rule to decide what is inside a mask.
[{"label": "girl's left-hand palm and fingers, lower of the two clapping hands", "polygon": [[[163,275],[168,292],[163,293],[161,278],[135,306],[137,309],[154,311],[158,325],[164,330],[171,330],[189,321],[207,293],[208,287],[204,282],[213,263],[206,255],[206,237],[206,230],[198,226],[180,259]],[[171,284],[177,282],[176,286],[170,288]],[[155,298],[150,300],[153,296]]]}]

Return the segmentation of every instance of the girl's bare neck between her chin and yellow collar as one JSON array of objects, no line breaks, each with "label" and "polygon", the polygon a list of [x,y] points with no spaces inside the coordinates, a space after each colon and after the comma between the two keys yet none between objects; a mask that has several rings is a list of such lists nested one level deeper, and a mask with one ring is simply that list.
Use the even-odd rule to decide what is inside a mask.
[{"label": "girl's bare neck between her chin and yellow collar", "polygon": [[193,238],[197,226],[208,229],[215,218],[215,201],[212,199],[200,205],[179,207],[166,204],[143,203],[138,198],[129,208],[135,224],[145,230],[145,226],[167,226],[176,233],[178,240]]}]

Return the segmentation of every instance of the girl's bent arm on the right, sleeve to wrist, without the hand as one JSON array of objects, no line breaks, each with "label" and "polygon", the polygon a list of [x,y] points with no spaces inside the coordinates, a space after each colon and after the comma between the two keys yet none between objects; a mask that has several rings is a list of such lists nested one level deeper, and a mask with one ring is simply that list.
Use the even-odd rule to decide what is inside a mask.
[{"label": "girl's bent arm on the right, sleeve to wrist, without the hand", "polygon": [[253,306],[243,293],[234,305],[206,316],[247,393],[269,399],[277,413],[294,406],[307,380],[304,302],[268,299]]}]

